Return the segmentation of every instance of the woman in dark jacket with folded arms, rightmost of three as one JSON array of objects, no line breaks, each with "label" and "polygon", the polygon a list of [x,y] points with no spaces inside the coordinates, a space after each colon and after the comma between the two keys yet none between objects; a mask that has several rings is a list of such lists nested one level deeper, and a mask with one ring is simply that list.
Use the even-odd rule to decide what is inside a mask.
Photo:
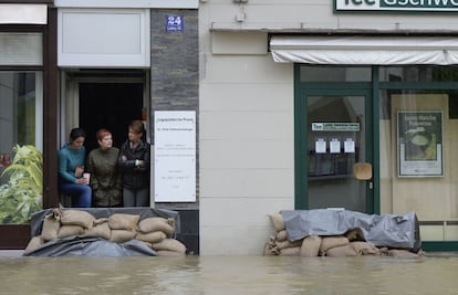
[{"label": "woman in dark jacket with folded arms, rightmost of three", "polygon": [[121,147],[117,164],[123,173],[124,207],[149,207],[150,145],[142,139],[144,134],[143,122],[132,122],[128,139]]}]

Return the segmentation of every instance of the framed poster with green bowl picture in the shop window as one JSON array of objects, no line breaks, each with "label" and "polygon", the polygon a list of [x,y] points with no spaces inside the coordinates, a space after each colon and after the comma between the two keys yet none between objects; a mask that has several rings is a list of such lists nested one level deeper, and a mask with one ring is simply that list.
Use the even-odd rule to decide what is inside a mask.
[{"label": "framed poster with green bowl picture in the shop window", "polygon": [[443,176],[443,112],[397,113],[398,176]]}]

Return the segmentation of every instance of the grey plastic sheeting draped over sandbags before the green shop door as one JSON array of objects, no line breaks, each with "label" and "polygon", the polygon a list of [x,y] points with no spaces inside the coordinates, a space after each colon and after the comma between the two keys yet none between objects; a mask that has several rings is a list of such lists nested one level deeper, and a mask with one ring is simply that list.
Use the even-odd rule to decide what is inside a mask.
[{"label": "grey plastic sheeting draped over sandbags before the green shop door", "polygon": [[366,242],[375,246],[421,247],[419,224],[415,212],[404,215],[366,214],[350,210],[284,210],[281,211],[290,241],[308,235],[340,235],[358,229]]}]

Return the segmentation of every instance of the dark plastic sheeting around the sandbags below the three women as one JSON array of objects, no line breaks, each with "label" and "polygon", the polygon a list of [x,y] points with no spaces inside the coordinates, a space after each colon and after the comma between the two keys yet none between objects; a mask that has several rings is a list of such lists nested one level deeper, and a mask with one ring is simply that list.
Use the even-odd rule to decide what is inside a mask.
[{"label": "dark plastic sheeting around the sandbags below the three women", "polygon": [[[61,210],[82,210],[93,214],[95,219],[108,218],[114,213],[139,214],[139,220],[150,217],[173,218],[175,233],[180,233],[179,213],[171,210],[154,208],[63,208]],[[53,209],[35,212],[31,220],[31,236],[41,234],[44,218]],[[129,240],[124,243],[110,242],[102,238],[82,235],[67,236],[49,241],[27,252],[23,256],[156,256],[157,253],[145,243]]]}]

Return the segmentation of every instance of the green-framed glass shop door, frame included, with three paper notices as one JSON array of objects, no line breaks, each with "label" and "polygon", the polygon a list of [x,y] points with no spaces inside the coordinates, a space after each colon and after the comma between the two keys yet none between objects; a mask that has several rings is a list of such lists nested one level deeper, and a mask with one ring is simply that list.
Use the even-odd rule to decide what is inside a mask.
[{"label": "green-framed glass shop door, frame included, with three paper notices", "polygon": [[[323,81],[296,87],[295,208],[374,213],[371,84],[334,82],[351,77],[347,69],[341,76],[332,67],[306,70],[302,80]],[[371,71],[360,73],[369,80]]]}]

